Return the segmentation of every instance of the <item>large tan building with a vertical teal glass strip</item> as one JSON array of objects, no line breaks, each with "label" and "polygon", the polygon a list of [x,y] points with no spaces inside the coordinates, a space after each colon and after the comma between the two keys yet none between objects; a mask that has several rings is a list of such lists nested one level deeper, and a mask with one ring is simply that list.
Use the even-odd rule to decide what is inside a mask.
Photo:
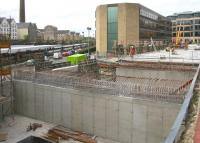
[{"label": "large tan building with a vertical teal glass strip", "polygon": [[96,48],[99,53],[113,51],[114,43],[170,39],[171,21],[136,3],[100,5],[96,8]]}]

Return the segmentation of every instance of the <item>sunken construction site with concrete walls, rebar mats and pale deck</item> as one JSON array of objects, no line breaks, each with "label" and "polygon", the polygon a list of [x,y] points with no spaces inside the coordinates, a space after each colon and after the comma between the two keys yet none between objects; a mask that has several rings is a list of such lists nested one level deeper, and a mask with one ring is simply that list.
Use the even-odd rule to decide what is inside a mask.
[{"label": "sunken construction site with concrete walls, rebar mats and pale deck", "polygon": [[187,109],[199,74],[198,57],[183,51],[165,58],[169,52],[156,51],[78,65],[2,67],[1,138],[6,143],[178,140],[182,108]]}]

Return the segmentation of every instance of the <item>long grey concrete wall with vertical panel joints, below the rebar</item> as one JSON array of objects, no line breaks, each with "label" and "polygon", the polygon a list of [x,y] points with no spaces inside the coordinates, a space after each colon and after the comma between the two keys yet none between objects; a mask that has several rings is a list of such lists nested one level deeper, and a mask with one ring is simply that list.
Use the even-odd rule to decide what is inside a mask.
[{"label": "long grey concrete wall with vertical panel joints, below the rebar", "polygon": [[120,143],[159,143],[168,134],[179,104],[100,95],[15,81],[16,112]]}]

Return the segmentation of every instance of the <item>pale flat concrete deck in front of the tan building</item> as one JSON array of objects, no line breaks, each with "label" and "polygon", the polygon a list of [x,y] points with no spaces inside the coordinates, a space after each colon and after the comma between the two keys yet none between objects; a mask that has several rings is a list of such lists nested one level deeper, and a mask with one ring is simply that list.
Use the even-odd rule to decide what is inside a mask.
[{"label": "pale flat concrete deck in front of the tan building", "polygon": [[133,57],[119,56],[110,58],[100,58],[98,60],[106,62],[117,62],[119,60],[143,61],[143,62],[172,62],[172,63],[200,63],[200,50],[176,49],[175,54],[171,52],[155,51],[137,54]]}]

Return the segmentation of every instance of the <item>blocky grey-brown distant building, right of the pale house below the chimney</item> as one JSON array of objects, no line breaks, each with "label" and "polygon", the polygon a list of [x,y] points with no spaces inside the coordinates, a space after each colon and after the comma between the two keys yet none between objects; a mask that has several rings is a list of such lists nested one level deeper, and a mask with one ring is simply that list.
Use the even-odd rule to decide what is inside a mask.
[{"label": "blocky grey-brown distant building, right of the pale house below the chimney", "polygon": [[56,41],[57,40],[57,32],[58,29],[55,26],[52,25],[47,25],[44,28],[44,40],[48,41],[48,40],[53,40]]}]

